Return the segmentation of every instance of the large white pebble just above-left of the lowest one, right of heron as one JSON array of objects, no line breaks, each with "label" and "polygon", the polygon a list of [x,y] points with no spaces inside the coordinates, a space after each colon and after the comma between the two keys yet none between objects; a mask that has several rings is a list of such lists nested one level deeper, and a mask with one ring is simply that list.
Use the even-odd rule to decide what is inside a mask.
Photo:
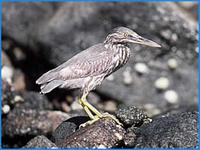
[{"label": "large white pebble just above-left of the lowest one, right of heron", "polygon": [[165,90],[169,87],[169,79],[166,77],[160,77],[155,81],[154,86],[159,90]]}]

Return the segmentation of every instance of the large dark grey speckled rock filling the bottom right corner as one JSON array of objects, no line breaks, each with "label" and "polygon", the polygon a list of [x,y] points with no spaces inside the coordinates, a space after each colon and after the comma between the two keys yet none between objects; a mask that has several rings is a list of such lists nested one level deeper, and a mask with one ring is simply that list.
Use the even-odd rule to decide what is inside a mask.
[{"label": "large dark grey speckled rock filling the bottom right corner", "polygon": [[137,138],[132,147],[196,148],[197,117],[197,112],[182,112],[156,118],[135,133]]}]

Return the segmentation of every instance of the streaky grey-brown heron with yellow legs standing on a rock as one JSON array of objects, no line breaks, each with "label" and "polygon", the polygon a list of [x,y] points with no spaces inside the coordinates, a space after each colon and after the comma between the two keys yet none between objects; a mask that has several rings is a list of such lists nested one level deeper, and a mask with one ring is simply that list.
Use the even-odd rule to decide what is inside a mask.
[{"label": "streaky grey-brown heron with yellow legs standing on a rock", "polygon": [[36,80],[36,84],[40,85],[42,94],[49,93],[57,87],[80,89],[79,103],[91,122],[103,117],[111,117],[121,124],[115,116],[98,111],[87,101],[87,96],[107,76],[127,63],[131,54],[131,43],[161,47],[127,27],[117,27],[107,35],[102,43],[81,51],[58,67],[44,73]]}]

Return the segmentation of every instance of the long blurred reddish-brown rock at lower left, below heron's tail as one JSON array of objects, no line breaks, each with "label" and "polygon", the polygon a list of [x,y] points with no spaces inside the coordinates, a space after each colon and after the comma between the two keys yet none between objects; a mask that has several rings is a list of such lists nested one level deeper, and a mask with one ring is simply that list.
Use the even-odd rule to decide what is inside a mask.
[{"label": "long blurred reddish-brown rock at lower left, below heron's tail", "polygon": [[3,124],[4,134],[10,138],[48,135],[69,115],[60,111],[37,111],[32,109],[13,109]]}]

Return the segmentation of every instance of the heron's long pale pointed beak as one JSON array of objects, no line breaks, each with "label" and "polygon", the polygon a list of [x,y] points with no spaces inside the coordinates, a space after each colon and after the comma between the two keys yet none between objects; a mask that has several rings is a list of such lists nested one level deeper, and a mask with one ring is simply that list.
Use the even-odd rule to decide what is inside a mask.
[{"label": "heron's long pale pointed beak", "polygon": [[137,37],[131,37],[131,39],[129,39],[129,42],[131,42],[131,43],[137,43],[137,44],[142,44],[142,45],[147,45],[147,46],[150,46],[150,47],[161,47],[156,42],[153,42],[151,40],[143,38],[143,37],[141,37],[139,35]]}]

